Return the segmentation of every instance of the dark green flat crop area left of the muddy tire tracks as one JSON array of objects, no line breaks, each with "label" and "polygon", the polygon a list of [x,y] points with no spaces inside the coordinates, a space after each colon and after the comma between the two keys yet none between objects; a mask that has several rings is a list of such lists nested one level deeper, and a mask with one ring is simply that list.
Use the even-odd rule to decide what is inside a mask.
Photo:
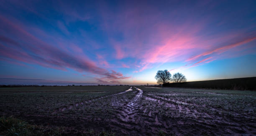
[{"label": "dark green flat crop area left of the muddy tire tracks", "polygon": [[0,114],[51,115],[52,111],[100,96],[125,91],[129,86],[58,86],[0,88]]}]

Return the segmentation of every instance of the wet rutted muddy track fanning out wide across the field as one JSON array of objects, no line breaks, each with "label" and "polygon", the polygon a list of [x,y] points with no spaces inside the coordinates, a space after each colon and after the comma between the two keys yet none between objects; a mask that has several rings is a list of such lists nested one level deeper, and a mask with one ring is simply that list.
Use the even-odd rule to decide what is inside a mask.
[{"label": "wet rutted muddy track fanning out wide across the field", "polygon": [[[233,97],[231,94],[202,91],[190,94]],[[181,95],[183,92],[146,91],[145,93],[133,87],[120,93],[63,106],[52,111],[51,116],[26,114],[18,117],[36,124],[67,127],[69,134],[83,133],[84,130],[91,128],[96,131],[111,130],[118,135],[253,136],[256,134],[256,121],[252,114],[208,105],[207,103],[212,102],[209,98],[215,99],[215,96],[178,97]],[[95,113],[87,113],[93,110]]]}]

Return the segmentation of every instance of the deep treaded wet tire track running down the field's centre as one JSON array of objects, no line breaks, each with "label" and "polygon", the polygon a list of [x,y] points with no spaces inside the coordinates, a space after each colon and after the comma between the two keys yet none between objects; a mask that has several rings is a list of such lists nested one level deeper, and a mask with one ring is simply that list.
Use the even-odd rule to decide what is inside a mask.
[{"label": "deep treaded wet tire track running down the field's centre", "polygon": [[159,120],[158,114],[153,110],[142,106],[143,91],[139,88],[136,90],[139,91],[136,96],[116,110],[117,118],[111,119],[110,126],[128,135],[145,135],[151,132],[157,134],[159,130],[166,132],[166,128],[169,128],[166,122]]}]

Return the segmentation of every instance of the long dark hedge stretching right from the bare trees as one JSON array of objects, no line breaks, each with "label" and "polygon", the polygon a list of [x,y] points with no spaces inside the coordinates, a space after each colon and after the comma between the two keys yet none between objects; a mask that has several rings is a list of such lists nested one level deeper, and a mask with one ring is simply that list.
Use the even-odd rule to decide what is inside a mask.
[{"label": "long dark hedge stretching right from the bare trees", "polygon": [[223,90],[256,90],[256,77],[165,83],[163,87],[208,88]]}]

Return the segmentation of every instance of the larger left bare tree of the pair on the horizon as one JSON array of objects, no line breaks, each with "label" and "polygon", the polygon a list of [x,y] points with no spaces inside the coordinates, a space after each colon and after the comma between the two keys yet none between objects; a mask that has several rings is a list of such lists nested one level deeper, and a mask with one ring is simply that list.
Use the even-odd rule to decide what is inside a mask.
[{"label": "larger left bare tree of the pair on the horizon", "polygon": [[157,71],[155,78],[157,80],[157,83],[164,84],[164,83],[169,83],[169,81],[172,78],[172,75],[167,70]]}]

